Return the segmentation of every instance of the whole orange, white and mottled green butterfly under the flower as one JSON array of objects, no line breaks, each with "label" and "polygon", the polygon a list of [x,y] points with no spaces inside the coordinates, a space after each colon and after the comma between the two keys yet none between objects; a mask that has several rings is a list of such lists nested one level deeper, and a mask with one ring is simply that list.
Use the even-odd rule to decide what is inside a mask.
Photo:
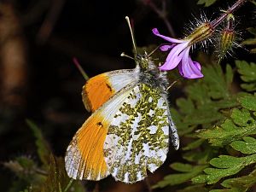
[{"label": "whole orange, white and mottled green butterfly under the flower", "polygon": [[165,162],[170,141],[179,147],[166,73],[146,52],[135,54],[134,61],[134,69],[102,73],[84,84],[84,106],[92,114],[67,147],[69,177],[100,180],[112,175],[136,183]]}]

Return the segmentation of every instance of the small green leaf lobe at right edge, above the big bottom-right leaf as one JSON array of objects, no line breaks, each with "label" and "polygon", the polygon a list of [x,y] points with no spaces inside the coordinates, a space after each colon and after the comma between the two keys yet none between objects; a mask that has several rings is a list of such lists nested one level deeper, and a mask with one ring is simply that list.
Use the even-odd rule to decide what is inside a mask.
[{"label": "small green leaf lobe at right edge, above the big bottom-right leaf", "polygon": [[243,141],[235,141],[231,143],[231,147],[240,151],[243,154],[255,154],[256,153],[256,139],[253,137],[244,137]]}]

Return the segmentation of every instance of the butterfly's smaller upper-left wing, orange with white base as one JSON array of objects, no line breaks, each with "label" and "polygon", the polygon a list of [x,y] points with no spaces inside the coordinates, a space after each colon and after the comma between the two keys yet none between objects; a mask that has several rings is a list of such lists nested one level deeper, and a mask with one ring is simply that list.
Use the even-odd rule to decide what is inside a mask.
[{"label": "butterfly's smaller upper-left wing, orange with white base", "polygon": [[86,110],[94,112],[125,85],[137,81],[137,73],[137,68],[123,69],[102,73],[89,79],[82,90],[82,99]]}]

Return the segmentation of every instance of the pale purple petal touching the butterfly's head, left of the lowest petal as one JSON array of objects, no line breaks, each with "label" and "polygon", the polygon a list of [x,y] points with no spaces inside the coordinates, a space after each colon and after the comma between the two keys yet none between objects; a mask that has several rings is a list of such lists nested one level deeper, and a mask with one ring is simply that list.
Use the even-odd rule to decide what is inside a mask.
[{"label": "pale purple petal touching the butterfly's head, left of the lowest petal", "polygon": [[164,65],[162,65],[160,70],[162,71],[167,71],[167,70],[172,70],[173,68],[177,67],[178,63],[182,61],[182,58],[184,54],[186,53],[186,48],[188,44],[183,43],[183,44],[177,44],[169,53],[169,55],[166,58],[166,62]]}]

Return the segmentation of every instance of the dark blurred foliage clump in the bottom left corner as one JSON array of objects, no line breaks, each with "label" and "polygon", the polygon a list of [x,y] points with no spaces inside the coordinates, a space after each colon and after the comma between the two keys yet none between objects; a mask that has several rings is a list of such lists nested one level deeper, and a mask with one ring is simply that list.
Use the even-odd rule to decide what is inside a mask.
[{"label": "dark blurred foliage clump in the bottom left corner", "polygon": [[40,163],[38,165],[26,156],[3,163],[17,177],[8,192],[85,192],[79,181],[67,177],[63,157],[56,157],[52,153],[38,126],[31,120],[26,120],[26,123],[34,134]]}]

